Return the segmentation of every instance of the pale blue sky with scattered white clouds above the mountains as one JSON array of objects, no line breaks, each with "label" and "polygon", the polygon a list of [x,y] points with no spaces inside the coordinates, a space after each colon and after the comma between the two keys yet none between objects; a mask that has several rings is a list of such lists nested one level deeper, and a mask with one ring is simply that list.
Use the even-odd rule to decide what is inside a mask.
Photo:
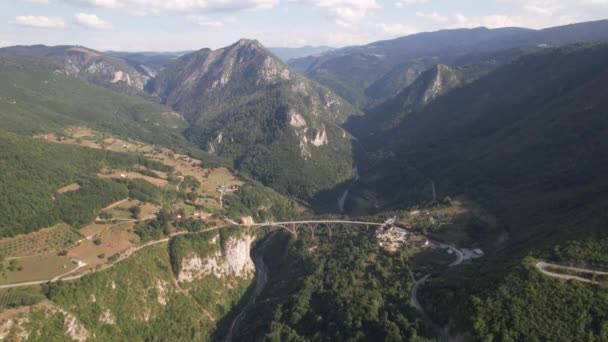
[{"label": "pale blue sky with scattered white clouds above the mountains", "polygon": [[608,18],[608,0],[0,0],[0,46],[100,50],[362,44],[459,27],[544,28]]}]

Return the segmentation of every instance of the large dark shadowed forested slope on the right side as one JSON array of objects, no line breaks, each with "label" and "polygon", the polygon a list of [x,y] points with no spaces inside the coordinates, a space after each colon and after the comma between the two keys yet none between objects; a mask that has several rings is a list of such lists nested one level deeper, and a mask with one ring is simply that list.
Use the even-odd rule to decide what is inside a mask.
[{"label": "large dark shadowed forested slope on the right side", "polygon": [[590,181],[608,167],[600,139],[607,49],[524,56],[413,111],[373,138],[374,149],[454,191]]}]

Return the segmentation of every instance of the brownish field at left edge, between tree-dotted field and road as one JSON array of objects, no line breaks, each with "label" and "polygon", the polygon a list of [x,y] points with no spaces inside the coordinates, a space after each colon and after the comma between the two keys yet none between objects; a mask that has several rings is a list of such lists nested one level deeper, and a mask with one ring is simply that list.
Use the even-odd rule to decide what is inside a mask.
[{"label": "brownish field at left edge, between tree-dotted field and road", "polygon": [[10,271],[9,262],[9,260],[4,261],[4,276],[0,277],[1,284],[51,279],[76,268],[68,256],[59,256],[56,253],[17,259],[16,267],[21,270]]}]

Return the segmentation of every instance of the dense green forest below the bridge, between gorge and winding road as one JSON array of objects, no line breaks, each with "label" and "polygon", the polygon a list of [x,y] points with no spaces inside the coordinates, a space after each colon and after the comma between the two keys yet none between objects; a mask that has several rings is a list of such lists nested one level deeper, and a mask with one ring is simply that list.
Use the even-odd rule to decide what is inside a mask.
[{"label": "dense green forest below the bridge, between gorge and winding road", "polygon": [[297,240],[275,238],[264,255],[267,288],[236,338],[430,339],[432,331],[409,306],[415,274],[408,250],[386,252],[369,234],[355,229],[335,230],[331,238],[319,233],[317,240],[304,233]]}]

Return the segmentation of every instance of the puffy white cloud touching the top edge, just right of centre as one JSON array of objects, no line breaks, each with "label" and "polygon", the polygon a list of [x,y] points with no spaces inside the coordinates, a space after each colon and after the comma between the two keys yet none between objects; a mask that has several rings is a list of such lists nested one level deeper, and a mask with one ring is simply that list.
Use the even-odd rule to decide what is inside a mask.
[{"label": "puffy white cloud touching the top edge, just right of centre", "polygon": [[322,10],[341,26],[350,26],[380,8],[376,0],[295,0],[293,2]]}]

